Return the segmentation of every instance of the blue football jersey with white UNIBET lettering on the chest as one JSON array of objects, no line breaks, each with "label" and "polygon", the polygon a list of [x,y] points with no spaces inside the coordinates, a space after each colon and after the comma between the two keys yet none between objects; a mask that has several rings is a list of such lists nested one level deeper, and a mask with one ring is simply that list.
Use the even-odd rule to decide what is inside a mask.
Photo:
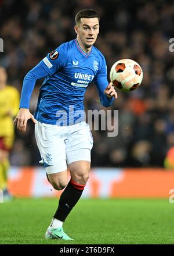
[{"label": "blue football jersey with white UNIBET lettering on the chest", "polygon": [[77,39],[66,42],[42,59],[39,66],[48,74],[40,88],[34,115],[39,122],[60,126],[81,122],[84,94],[92,81],[102,104],[110,106],[113,102],[103,93],[108,85],[107,66],[104,56],[94,46],[86,54]]}]

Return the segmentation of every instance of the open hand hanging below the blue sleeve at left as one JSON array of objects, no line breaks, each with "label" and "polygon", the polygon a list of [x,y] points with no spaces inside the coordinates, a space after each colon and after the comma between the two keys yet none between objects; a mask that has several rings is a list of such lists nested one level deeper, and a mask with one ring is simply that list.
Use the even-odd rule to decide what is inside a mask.
[{"label": "open hand hanging below the blue sleeve at left", "polygon": [[14,125],[17,126],[17,130],[24,133],[24,131],[26,131],[28,119],[31,119],[32,122],[37,123],[37,120],[35,120],[28,108],[20,108],[16,118],[14,119]]}]

